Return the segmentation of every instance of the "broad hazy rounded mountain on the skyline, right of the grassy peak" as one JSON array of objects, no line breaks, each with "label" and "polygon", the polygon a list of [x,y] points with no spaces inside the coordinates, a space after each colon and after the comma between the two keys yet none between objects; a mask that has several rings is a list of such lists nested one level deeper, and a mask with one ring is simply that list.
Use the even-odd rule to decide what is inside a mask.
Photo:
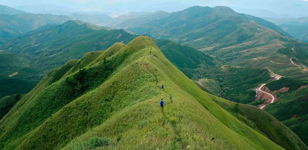
[{"label": "broad hazy rounded mountain on the skyline, right of the grassy peak", "polygon": [[253,40],[252,38],[256,38],[256,34],[261,32],[271,33],[272,36],[280,35],[272,29],[284,32],[264,19],[236,13],[224,6],[214,8],[194,6],[161,19],[128,28],[134,33],[170,39],[189,44],[194,48],[223,48],[237,45]]}]

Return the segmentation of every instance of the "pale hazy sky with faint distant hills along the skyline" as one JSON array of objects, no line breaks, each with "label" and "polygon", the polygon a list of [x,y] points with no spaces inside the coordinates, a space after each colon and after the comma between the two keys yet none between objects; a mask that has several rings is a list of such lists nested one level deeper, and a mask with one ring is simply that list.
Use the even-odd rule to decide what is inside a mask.
[{"label": "pale hazy sky with faint distant hills along the skyline", "polygon": [[[2,0],[7,5],[30,13],[69,14],[76,11],[129,12],[163,10],[175,12],[191,6],[228,6],[239,13],[251,13],[258,17],[306,17],[308,0]],[[253,11],[252,11],[253,10]],[[266,10],[266,11],[265,11]]]}]

